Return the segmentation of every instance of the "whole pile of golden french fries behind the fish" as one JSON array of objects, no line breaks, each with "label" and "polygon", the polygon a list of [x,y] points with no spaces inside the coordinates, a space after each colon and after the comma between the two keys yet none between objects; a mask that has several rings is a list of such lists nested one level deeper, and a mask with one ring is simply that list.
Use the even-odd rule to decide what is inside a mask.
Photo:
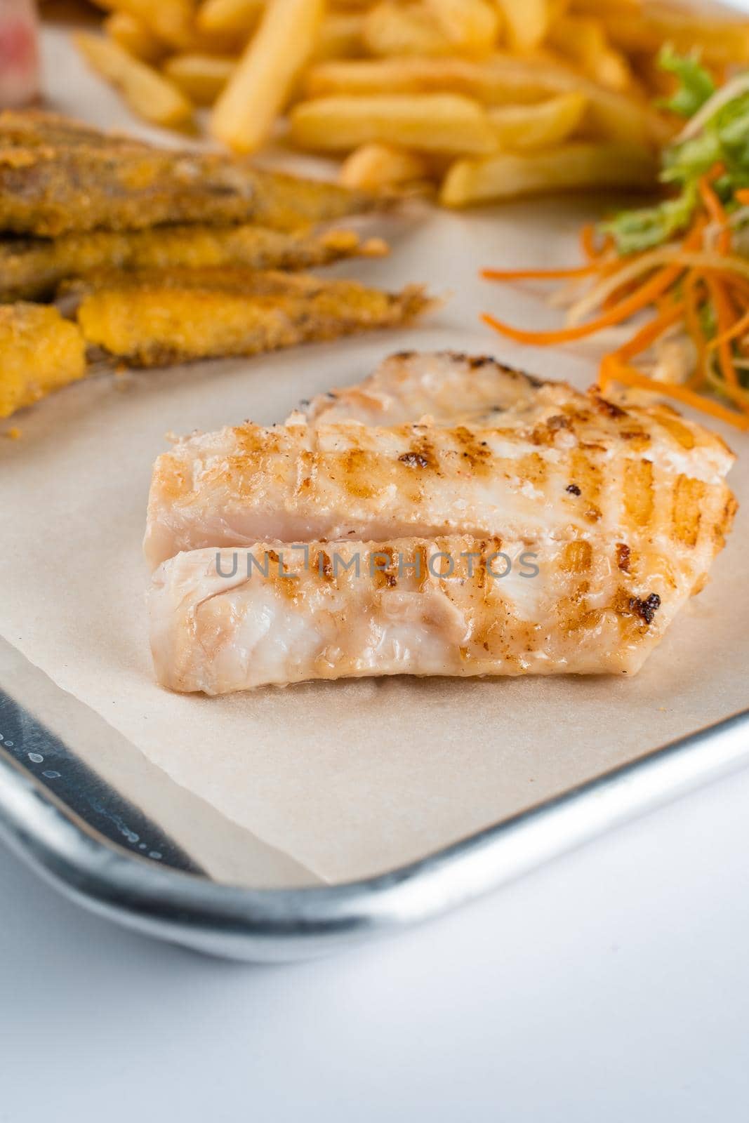
[{"label": "whole pile of golden french fries behind the fish", "polygon": [[722,77],[749,21],[686,0],[97,0],[76,35],[131,109],[238,153],[271,137],[342,157],[354,188],[449,207],[652,182],[664,43]]}]

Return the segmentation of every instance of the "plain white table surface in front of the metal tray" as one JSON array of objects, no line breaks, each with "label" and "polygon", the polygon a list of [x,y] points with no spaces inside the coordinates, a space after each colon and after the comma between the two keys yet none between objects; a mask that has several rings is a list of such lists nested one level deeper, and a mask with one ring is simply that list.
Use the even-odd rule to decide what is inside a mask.
[{"label": "plain white table surface in front of the metal tray", "polygon": [[748,806],[745,770],[439,922],[271,968],[129,934],[0,848],[0,1123],[743,1123]]}]

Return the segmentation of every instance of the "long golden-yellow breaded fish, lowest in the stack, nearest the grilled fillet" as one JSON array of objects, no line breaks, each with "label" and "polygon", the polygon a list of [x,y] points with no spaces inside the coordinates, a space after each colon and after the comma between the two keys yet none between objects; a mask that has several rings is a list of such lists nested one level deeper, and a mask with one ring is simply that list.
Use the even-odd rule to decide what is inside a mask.
[{"label": "long golden-yellow breaded fish, lowest in the stack, nearest the grilled fillet", "polygon": [[86,341],[134,366],[257,355],[398,327],[431,303],[418,286],[386,293],[238,267],[94,274],[72,291],[83,294],[77,321]]}]

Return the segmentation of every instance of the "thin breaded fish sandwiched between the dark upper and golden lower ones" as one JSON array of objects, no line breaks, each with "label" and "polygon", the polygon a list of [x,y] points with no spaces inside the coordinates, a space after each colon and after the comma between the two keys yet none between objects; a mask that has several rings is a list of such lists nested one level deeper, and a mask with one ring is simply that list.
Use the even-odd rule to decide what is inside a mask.
[{"label": "thin breaded fish sandwiched between the dark upper and golden lower ones", "polygon": [[321,235],[268,227],[159,226],[146,230],[91,230],[48,238],[0,240],[0,300],[53,296],[67,277],[92,270],[202,268],[305,270],[344,257],[386,252],[380,239],[360,241],[353,230]]}]

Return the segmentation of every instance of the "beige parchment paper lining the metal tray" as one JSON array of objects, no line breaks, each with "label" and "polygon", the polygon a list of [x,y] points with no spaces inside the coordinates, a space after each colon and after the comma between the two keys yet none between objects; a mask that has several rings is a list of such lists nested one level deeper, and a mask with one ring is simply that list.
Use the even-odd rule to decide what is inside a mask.
[{"label": "beige parchment paper lining the metal tray", "polygon": [[[66,111],[100,120],[101,101],[86,111],[97,104],[93,80],[73,88],[68,56],[53,47],[63,60],[48,75],[53,95],[63,88]],[[122,124],[117,102],[108,106],[112,122]],[[280,420],[300,398],[357,381],[407,347],[492,353],[590,384],[592,355],[519,349],[483,329],[483,309],[539,326],[558,322],[558,313],[540,294],[488,285],[476,271],[574,262],[576,231],[592,210],[590,200],[469,214],[414,208],[377,228],[393,244],[390,259],[338,272],[451,291],[423,326],[252,362],[97,377],[13,419],[22,438],[0,440],[0,636],[100,715],[128,751],[332,882],[421,857],[742,709],[745,511],[711,584],[633,679],[392,678],[222,699],[170,694],[153,681],[140,540],[164,433]],[[731,483],[746,506],[749,440],[721,431],[740,453]],[[95,767],[95,745],[86,751]],[[148,803],[147,792],[126,794]],[[216,876],[222,869],[218,862]],[[225,876],[238,878],[236,865]]]}]

